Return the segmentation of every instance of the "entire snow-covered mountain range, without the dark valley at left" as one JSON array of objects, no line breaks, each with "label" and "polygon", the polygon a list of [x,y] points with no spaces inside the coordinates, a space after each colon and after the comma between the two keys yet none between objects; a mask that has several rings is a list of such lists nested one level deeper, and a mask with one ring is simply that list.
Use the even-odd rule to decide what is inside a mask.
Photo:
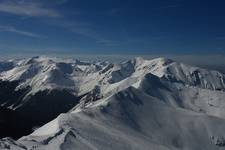
[{"label": "entire snow-covered mountain range, without the dark valley at left", "polygon": [[29,89],[19,102],[0,101],[13,111],[42,106],[27,97],[45,90],[80,98],[73,104],[62,97],[59,104],[74,105],[67,113],[17,141],[0,139],[1,150],[225,149],[225,75],[218,71],[165,58],[112,64],[34,57],[0,62],[0,80]]}]

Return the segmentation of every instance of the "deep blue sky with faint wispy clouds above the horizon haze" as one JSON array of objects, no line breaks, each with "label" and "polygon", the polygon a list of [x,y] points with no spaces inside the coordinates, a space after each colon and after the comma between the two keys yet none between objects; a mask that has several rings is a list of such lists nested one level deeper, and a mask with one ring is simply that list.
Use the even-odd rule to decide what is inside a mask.
[{"label": "deep blue sky with faint wispy clouds above the horizon haze", "polygon": [[223,0],[0,0],[0,52],[224,54]]}]

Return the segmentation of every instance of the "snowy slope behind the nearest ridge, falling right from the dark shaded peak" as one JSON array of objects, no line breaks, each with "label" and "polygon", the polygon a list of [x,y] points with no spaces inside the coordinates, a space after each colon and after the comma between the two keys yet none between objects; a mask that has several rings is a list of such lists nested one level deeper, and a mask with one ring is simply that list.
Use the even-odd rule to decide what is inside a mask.
[{"label": "snowy slope behind the nearest ridge, falling right from the dark shaded peak", "polygon": [[139,85],[145,94],[154,96],[169,106],[225,118],[225,92],[202,89],[147,74]]}]

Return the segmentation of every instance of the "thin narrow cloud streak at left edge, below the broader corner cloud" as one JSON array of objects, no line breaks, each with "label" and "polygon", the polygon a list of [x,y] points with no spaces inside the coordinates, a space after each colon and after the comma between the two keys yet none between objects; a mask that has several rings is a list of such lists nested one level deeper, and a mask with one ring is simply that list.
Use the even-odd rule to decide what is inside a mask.
[{"label": "thin narrow cloud streak at left edge, below the broader corner cloud", "polygon": [[43,37],[43,36],[41,36],[39,34],[35,34],[35,33],[32,33],[32,32],[18,30],[15,27],[12,27],[12,26],[0,26],[0,32],[1,31],[12,32],[12,33],[16,33],[16,34],[27,36],[27,37],[33,37],[33,38],[41,38],[41,37]]}]

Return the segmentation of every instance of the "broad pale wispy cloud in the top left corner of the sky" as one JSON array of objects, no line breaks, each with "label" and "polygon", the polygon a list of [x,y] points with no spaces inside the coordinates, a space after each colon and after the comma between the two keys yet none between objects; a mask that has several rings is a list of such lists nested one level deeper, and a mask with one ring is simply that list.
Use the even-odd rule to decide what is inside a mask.
[{"label": "broad pale wispy cloud in the top left corner of the sky", "polygon": [[52,8],[44,7],[38,1],[4,1],[0,2],[0,12],[29,16],[29,17],[51,17],[58,18],[62,15]]}]

